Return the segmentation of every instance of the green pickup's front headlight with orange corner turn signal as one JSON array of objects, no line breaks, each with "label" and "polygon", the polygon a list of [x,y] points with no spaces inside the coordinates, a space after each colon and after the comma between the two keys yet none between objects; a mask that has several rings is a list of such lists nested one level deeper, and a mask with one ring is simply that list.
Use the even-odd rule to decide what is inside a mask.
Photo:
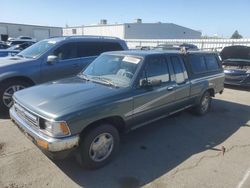
[{"label": "green pickup's front headlight with orange corner turn signal", "polygon": [[53,137],[63,137],[70,135],[70,130],[64,121],[47,121],[44,120],[43,132]]}]

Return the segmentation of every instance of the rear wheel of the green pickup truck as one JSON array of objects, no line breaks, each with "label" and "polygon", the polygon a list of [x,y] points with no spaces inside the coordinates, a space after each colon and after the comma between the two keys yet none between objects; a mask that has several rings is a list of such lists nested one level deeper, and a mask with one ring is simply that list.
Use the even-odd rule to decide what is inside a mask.
[{"label": "rear wheel of the green pickup truck", "polygon": [[202,97],[199,101],[199,104],[194,107],[194,109],[193,109],[194,113],[196,115],[199,115],[199,116],[205,115],[210,110],[211,101],[212,101],[211,95],[210,95],[209,91],[206,91],[202,95]]}]

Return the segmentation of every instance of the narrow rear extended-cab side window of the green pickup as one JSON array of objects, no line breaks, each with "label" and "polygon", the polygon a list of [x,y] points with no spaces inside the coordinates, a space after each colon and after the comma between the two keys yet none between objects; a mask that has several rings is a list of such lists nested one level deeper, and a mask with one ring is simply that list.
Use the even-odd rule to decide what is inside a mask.
[{"label": "narrow rear extended-cab side window of the green pickup", "polygon": [[175,73],[175,81],[177,84],[182,84],[186,81],[187,72],[185,70],[184,64],[180,61],[179,57],[172,56],[170,57],[171,63]]}]

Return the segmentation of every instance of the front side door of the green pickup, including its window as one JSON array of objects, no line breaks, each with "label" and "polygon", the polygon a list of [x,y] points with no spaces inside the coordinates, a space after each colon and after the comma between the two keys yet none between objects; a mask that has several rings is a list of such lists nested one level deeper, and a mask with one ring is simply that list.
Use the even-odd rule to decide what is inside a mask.
[{"label": "front side door of the green pickup, including its window", "polygon": [[157,117],[167,115],[175,99],[174,82],[170,79],[170,71],[165,56],[152,56],[146,60],[140,75],[140,82],[159,81],[161,84],[149,88],[138,87],[134,95],[134,123],[141,124]]}]

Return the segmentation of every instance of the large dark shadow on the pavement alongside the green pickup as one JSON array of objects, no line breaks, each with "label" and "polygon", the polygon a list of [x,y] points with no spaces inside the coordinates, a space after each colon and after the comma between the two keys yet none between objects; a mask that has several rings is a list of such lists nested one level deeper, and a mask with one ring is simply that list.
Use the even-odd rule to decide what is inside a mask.
[{"label": "large dark shadow on the pavement alongside the green pickup", "polygon": [[221,152],[220,144],[250,120],[249,114],[250,106],[214,99],[205,116],[183,112],[124,135],[117,158],[101,169],[84,170],[74,159],[56,164],[83,187],[143,186],[196,153]]}]

